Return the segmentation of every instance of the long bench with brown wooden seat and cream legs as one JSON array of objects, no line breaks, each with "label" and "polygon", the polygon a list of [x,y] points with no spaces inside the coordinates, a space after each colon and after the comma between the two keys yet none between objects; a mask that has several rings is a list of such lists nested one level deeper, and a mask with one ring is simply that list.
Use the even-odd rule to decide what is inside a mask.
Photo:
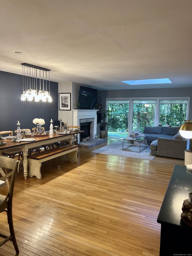
[{"label": "long bench with brown wooden seat and cream legs", "polygon": [[29,177],[36,176],[41,179],[41,163],[61,155],[67,154],[67,161],[77,162],[78,145],[64,145],[54,149],[49,149],[37,154],[28,155]]}]

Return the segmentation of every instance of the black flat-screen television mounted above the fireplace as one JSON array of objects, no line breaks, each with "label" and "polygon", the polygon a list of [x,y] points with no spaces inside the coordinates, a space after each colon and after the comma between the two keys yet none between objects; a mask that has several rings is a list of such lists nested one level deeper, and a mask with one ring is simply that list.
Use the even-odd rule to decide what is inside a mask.
[{"label": "black flat-screen television mounted above the fireplace", "polygon": [[97,103],[97,89],[80,86],[78,102],[80,109],[93,109]]}]

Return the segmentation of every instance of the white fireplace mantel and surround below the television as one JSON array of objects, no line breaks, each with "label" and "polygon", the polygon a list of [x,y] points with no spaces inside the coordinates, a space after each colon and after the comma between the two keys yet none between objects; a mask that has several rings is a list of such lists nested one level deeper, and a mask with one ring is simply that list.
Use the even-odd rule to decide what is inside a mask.
[{"label": "white fireplace mantel and surround below the television", "polygon": [[97,134],[98,109],[73,109],[73,125],[80,126],[79,119],[94,118],[94,138]]}]

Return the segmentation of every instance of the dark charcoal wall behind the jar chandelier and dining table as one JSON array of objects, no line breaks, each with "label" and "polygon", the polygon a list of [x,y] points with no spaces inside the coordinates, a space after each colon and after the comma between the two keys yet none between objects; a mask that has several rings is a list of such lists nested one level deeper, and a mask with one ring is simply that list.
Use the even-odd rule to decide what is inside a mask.
[{"label": "dark charcoal wall behind the jar chandelier and dining table", "polygon": [[52,102],[21,101],[22,75],[0,71],[0,131],[14,131],[17,121],[21,128],[32,129],[34,118],[45,120],[49,130],[50,120],[58,120],[58,83],[50,81]]}]

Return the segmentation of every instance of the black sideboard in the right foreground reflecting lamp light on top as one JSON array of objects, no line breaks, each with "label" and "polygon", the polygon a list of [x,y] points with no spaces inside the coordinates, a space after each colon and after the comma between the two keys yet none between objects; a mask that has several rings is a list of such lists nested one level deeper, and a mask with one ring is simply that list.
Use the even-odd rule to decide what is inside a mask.
[{"label": "black sideboard in the right foreground reflecting lamp light on top", "polygon": [[192,191],[192,172],[176,165],[157,222],[161,224],[160,256],[192,255],[192,227],[181,219],[182,205]]}]

